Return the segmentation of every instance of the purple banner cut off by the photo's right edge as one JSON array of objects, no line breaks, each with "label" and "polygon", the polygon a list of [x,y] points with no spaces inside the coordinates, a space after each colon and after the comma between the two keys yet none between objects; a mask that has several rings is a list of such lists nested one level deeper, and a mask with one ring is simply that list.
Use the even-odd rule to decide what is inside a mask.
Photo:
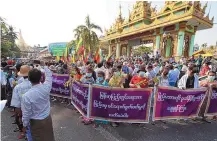
[{"label": "purple banner cut off by the photo's right edge", "polygon": [[217,115],[217,88],[210,88],[205,116]]}]

